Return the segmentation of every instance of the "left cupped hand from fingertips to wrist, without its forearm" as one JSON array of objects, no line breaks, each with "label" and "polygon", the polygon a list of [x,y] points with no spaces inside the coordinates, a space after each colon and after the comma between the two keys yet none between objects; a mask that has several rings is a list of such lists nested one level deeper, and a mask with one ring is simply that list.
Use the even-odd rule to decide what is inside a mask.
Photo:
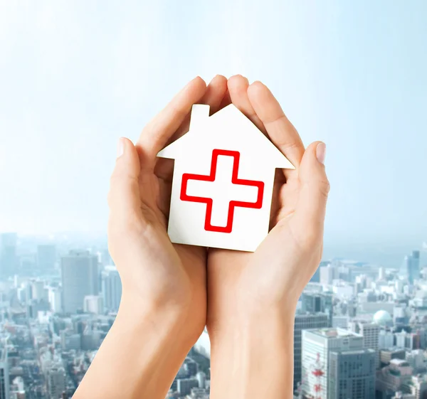
[{"label": "left cupped hand from fingertips to wrist, without its forearm", "polygon": [[206,321],[206,248],[173,245],[167,235],[173,161],[157,153],[184,134],[191,105],[221,106],[226,78],[195,78],[144,127],[137,144],[120,139],[110,180],[108,246],[122,280],[122,306],[169,312],[191,340]]}]

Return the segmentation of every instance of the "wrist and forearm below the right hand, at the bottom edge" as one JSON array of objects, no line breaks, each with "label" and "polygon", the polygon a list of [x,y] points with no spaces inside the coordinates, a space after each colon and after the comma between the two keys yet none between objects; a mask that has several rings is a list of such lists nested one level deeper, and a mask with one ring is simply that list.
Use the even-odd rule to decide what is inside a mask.
[{"label": "wrist and forearm below the right hand, at the bottom edge", "polygon": [[210,334],[211,398],[288,397],[293,329],[294,314],[274,308],[250,312]]}]

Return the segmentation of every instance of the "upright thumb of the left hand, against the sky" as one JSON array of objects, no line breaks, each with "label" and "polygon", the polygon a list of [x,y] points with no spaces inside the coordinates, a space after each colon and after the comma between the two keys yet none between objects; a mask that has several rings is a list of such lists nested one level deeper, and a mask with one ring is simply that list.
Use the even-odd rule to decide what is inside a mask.
[{"label": "upright thumb of the left hand, against the sky", "polygon": [[139,211],[139,156],[130,139],[121,137],[117,144],[117,159],[110,179],[108,206],[110,216],[129,221]]}]

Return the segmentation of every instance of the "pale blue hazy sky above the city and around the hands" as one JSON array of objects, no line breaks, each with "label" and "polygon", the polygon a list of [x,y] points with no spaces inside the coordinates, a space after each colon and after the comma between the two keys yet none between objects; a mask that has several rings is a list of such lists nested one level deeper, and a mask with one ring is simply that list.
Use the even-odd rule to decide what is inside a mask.
[{"label": "pale blue hazy sky above the city and around the hands", "polygon": [[427,2],[0,1],[0,231],[105,230],[117,138],[196,75],[327,143],[327,237],[427,240]]}]

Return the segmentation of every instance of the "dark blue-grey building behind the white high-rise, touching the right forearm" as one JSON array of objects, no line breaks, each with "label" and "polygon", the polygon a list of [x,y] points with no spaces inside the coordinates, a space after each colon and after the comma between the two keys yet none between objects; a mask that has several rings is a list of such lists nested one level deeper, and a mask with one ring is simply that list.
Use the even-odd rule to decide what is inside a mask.
[{"label": "dark blue-grey building behind the white high-rise, touching the right forearm", "polygon": [[302,381],[301,376],[301,336],[302,330],[322,329],[328,326],[328,318],[325,313],[295,314],[294,323],[294,389]]}]

